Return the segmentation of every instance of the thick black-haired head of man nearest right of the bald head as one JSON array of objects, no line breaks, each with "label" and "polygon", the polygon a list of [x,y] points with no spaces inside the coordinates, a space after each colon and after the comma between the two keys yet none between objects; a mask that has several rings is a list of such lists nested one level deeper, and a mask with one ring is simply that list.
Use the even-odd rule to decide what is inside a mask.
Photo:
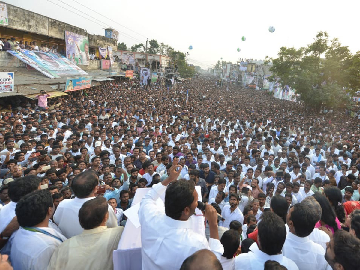
[{"label": "thick black-haired head of man nearest right of the bald head", "polygon": [[264,212],[258,224],[258,245],[267,255],[277,255],[283,248],[286,229],[282,218],[273,212]]}]

